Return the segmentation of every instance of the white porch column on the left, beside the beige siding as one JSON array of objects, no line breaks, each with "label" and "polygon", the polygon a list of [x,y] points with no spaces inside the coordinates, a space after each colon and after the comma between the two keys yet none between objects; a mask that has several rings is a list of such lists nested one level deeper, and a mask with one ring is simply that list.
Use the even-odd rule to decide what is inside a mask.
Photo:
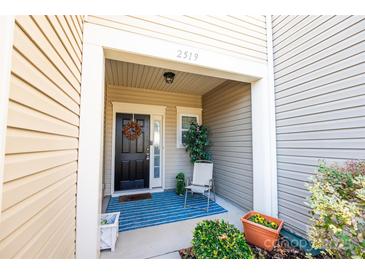
[{"label": "white porch column on the left, beside the beige siding", "polygon": [[83,45],[76,258],[98,258],[104,130],[103,48]]}]

